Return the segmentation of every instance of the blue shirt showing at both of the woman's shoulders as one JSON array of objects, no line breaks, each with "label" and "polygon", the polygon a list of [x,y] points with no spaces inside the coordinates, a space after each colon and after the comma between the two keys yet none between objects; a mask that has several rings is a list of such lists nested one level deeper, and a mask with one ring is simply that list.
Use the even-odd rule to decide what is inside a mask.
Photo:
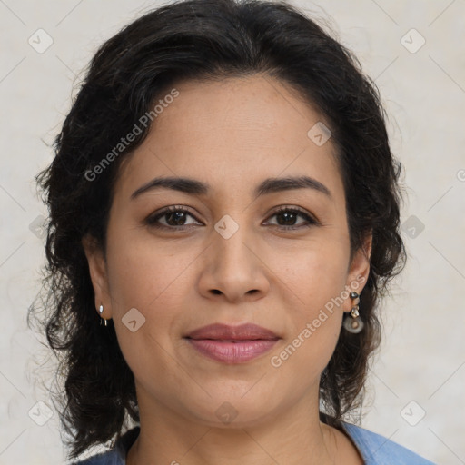
[{"label": "blue shirt showing at both of the woman's shoulders", "polygon": [[[365,465],[435,465],[400,444],[360,426],[342,422],[342,428],[359,450]],[[125,465],[127,452],[137,439],[139,431],[139,426],[127,430],[115,442],[113,449],[74,462],[72,465]]]}]

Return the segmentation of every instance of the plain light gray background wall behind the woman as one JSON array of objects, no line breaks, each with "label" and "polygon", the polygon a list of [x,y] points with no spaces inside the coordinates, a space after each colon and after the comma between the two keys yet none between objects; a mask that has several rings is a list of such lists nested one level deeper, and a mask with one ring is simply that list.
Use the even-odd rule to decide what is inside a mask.
[{"label": "plain light gray background wall behind the woman", "polygon": [[[331,25],[376,80],[406,172],[410,261],[382,308],[384,340],[361,424],[430,460],[465,463],[465,1],[292,3]],[[33,177],[52,159],[49,144],[95,47],[156,5],[0,0],[0,464],[64,463],[56,411],[34,377],[33,356],[46,351],[25,323],[44,260],[40,230],[30,228],[45,215]],[[53,38],[42,54],[28,44],[39,46],[39,28]],[[41,372],[52,380],[52,370]],[[37,401],[53,412],[43,426],[28,414],[47,419]]]}]

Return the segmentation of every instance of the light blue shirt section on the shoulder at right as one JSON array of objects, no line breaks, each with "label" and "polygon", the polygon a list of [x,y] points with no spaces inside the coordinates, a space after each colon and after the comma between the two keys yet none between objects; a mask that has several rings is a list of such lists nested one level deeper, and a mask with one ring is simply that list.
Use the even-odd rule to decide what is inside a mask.
[{"label": "light blue shirt section on the shoulder at right", "polygon": [[346,422],[342,423],[342,427],[360,450],[366,465],[434,465],[381,434]]}]

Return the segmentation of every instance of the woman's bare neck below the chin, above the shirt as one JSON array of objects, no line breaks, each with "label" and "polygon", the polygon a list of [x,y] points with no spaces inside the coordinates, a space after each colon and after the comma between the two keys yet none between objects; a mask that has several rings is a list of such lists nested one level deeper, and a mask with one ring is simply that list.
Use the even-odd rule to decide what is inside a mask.
[{"label": "woman's bare neck below the chin, above the shirt", "polygon": [[337,462],[340,439],[335,430],[320,422],[318,404],[302,400],[261,422],[241,425],[233,420],[218,427],[188,420],[146,400],[144,395],[138,396],[141,430],[128,452],[126,465]]}]

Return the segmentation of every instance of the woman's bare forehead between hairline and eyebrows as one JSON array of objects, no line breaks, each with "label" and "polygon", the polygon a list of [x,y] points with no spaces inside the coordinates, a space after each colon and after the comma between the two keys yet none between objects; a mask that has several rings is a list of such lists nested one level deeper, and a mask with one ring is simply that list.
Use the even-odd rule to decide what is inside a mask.
[{"label": "woman's bare forehead between hairline and eyebrows", "polygon": [[264,178],[307,174],[341,190],[331,138],[312,139],[315,126],[329,124],[291,87],[262,75],[174,87],[179,95],[122,165],[124,188],[162,175],[208,179],[213,194],[252,192]]}]

